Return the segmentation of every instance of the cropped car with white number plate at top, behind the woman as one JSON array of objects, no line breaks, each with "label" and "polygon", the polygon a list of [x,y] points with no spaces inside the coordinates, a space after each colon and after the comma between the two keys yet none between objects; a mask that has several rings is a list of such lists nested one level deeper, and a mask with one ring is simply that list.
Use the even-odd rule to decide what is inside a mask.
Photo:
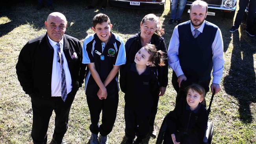
[{"label": "cropped car with white number plate at top, behind the woman", "polygon": [[132,9],[165,9],[165,0],[109,0],[112,6]]}]

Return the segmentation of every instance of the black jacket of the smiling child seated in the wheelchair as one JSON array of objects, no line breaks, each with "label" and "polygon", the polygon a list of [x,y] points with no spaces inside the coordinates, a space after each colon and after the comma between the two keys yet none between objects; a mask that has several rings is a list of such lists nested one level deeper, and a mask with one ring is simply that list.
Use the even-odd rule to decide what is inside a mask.
[{"label": "black jacket of the smiling child seated in the wheelchair", "polygon": [[203,141],[207,122],[208,113],[204,105],[199,103],[197,109],[191,111],[185,99],[170,112],[168,129],[171,134],[175,134],[177,142],[197,141],[195,143],[199,144]]}]

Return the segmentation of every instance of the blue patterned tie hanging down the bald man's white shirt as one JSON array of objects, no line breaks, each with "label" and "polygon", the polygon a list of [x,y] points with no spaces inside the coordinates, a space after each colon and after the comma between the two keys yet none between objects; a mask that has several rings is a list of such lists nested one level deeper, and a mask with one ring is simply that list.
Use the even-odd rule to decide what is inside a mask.
[{"label": "blue patterned tie hanging down the bald man's white shirt", "polygon": [[57,51],[58,62],[60,63],[60,67],[61,67],[61,98],[65,102],[67,98],[66,75],[65,75],[65,70],[63,68],[63,55],[61,54],[61,51],[60,51],[59,42],[57,42],[57,46],[58,46],[58,51]]}]

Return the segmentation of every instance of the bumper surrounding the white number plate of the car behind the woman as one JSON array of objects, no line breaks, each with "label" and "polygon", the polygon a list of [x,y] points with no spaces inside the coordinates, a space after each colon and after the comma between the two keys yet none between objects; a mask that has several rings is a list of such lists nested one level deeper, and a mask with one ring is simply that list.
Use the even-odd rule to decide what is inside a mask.
[{"label": "bumper surrounding the white number plate of the car behind the woman", "polygon": [[109,0],[109,2],[113,6],[132,9],[159,9],[165,4],[165,0],[163,0],[162,2],[140,2],[140,6],[130,5],[130,1],[127,0]]}]

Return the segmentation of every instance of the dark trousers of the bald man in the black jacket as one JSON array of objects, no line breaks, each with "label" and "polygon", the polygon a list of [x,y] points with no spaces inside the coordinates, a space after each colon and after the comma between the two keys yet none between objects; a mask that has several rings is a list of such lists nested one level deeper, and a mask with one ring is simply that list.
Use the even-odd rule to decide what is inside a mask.
[{"label": "dark trousers of the bald man in the black jacket", "polygon": [[33,110],[32,139],[34,144],[46,144],[47,129],[52,111],[55,112],[55,129],[53,139],[60,144],[67,129],[69,111],[74,100],[76,91],[71,90],[65,102],[61,96],[42,98],[31,96]]}]

